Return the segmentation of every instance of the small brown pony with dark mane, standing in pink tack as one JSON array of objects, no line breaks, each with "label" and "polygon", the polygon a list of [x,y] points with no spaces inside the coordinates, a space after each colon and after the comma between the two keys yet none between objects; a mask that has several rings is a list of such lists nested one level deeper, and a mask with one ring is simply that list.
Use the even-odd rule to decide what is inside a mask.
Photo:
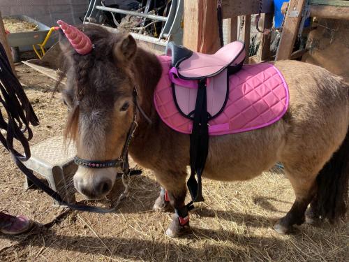
[{"label": "small brown pony with dark mane, standing in pink tack", "polygon": [[[154,54],[138,48],[132,36],[111,34],[98,26],[84,26],[94,44],[80,55],[66,39],[61,48],[67,61],[64,101],[70,108],[67,136],[75,140],[77,157],[91,161],[117,159],[138,112],[138,128],[129,147],[131,157],[154,170],[168,192],[156,199],[155,210],[184,209],[189,136],[173,131],[154,108],[154,88],[161,64]],[[277,61],[290,90],[288,112],[262,129],[210,138],[203,177],[211,180],[248,180],[277,161],[295,190],[295,203],[274,229],[288,233],[294,224],[319,219],[334,221],[346,214],[349,177],[349,87],[341,78],[318,66],[299,61]],[[140,108],[133,103],[138,88]],[[73,178],[87,198],[103,198],[111,189],[117,168],[79,166]],[[310,203],[310,208],[306,208]],[[188,229],[174,214],[167,234]],[[183,217],[181,217],[183,218]]]}]

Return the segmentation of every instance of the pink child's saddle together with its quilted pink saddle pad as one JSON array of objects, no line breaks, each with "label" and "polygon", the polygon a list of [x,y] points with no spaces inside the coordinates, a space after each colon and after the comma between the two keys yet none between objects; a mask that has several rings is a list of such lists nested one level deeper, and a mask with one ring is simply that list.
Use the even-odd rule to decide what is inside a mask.
[{"label": "pink child's saddle together with its quilted pink saddle pad", "polygon": [[[176,60],[178,51],[173,49],[172,57],[158,56],[163,73],[154,103],[170,128],[191,133],[200,79],[205,79],[210,136],[259,129],[285,114],[288,86],[279,70],[267,63],[242,66],[241,43],[230,43],[225,48],[211,55],[188,54],[182,61]],[[234,65],[232,72],[230,65]]]}]

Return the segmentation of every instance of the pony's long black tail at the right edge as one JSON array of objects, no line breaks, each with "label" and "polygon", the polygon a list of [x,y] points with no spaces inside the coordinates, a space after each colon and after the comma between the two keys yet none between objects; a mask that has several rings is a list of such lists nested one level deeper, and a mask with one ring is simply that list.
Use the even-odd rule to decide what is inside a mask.
[{"label": "pony's long black tail at the right edge", "polygon": [[341,147],[320,170],[316,182],[317,210],[321,219],[334,223],[346,216],[349,179],[349,130]]}]

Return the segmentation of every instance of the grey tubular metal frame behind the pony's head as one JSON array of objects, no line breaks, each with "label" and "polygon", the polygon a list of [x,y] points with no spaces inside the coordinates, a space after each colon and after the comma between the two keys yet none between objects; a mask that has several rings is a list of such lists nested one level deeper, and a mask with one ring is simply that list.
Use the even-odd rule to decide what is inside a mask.
[{"label": "grey tubular metal frame behind the pony's head", "polygon": [[[149,49],[155,52],[164,53],[169,41],[174,41],[174,43],[176,43],[177,45],[182,45],[183,43],[183,10],[184,0],[172,0],[170,11],[167,17],[163,17],[161,15],[151,15],[148,13],[138,13],[135,11],[119,8],[110,8],[103,6],[101,0],[91,0],[89,8],[87,9],[87,13],[84,17],[84,23],[89,23],[91,17],[98,17],[101,11],[144,17],[154,21],[165,22],[164,26],[161,29],[161,34],[159,34],[158,38],[143,34],[131,33],[131,35],[136,40],[138,40],[141,45],[142,43],[146,43]],[[149,43],[151,44],[150,47]]]}]

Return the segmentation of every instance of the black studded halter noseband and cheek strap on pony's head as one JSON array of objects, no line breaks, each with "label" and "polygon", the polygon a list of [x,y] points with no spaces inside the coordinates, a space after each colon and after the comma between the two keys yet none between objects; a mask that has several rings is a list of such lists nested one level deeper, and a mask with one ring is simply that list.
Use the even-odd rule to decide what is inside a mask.
[{"label": "black studded halter noseband and cheek strap on pony's head", "polygon": [[[130,175],[130,165],[128,163],[128,146],[130,145],[131,139],[133,138],[133,133],[137,128],[137,110],[139,108],[137,102],[137,88],[133,88],[133,104],[135,108],[133,110],[133,120],[130,128],[128,129],[127,138],[125,140],[124,147],[122,149],[121,155],[118,159],[107,160],[107,161],[94,161],[88,159],[80,159],[80,157],[75,156],[74,163],[77,166],[83,166],[84,168],[122,168],[122,173],[124,175]],[[142,110],[140,110],[142,112]]]}]

